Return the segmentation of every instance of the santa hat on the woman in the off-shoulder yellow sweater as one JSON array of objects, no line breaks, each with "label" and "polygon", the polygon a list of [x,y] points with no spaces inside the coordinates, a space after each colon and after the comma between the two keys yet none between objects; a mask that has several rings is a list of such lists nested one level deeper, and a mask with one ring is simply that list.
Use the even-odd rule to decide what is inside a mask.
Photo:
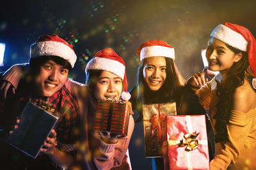
[{"label": "santa hat on the woman in the off-shoulder yellow sweater", "polygon": [[250,67],[256,77],[256,41],[252,33],[241,25],[226,22],[224,25],[218,25],[212,32],[211,36],[220,39],[238,50],[248,52]]}]

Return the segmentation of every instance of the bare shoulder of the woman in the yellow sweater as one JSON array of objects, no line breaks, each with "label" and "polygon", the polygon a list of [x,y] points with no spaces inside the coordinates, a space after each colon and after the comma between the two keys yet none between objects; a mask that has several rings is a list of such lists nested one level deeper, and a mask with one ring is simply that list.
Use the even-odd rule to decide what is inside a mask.
[{"label": "bare shoulder of the woman in the yellow sweater", "polygon": [[256,106],[256,93],[247,80],[233,94],[233,109],[247,113]]}]

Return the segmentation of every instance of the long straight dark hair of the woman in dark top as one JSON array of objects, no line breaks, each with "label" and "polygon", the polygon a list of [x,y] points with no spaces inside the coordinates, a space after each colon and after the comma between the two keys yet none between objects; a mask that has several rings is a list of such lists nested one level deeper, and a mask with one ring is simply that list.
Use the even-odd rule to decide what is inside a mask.
[{"label": "long straight dark hair of the woman in dark top", "polygon": [[[146,58],[141,61],[137,73],[138,94],[136,108],[138,110],[141,110],[142,104],[165,103],[171,99],[179,103],[185,79],[179,73],[173,59],[168,57],[164,57],[164,59],[166,61],[166,80],[162,87],[157,91],[150,90],[143,77],[143,68],[148,59]],[[141,122],[143,115],[141,111],[138,111],[138,113],[140,114],[140,117],[138,117],[136,122]]]}]

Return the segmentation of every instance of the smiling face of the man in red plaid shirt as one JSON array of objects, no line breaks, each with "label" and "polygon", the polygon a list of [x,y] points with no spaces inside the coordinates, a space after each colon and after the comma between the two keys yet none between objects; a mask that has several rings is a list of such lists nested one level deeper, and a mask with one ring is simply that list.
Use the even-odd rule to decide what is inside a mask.
[{"label": "smiling face of the man in red plaid shirt", "polygon": [[38,96],[51,97],[63,87],[68,77],[68,69],[48,60],[40,66],[40,72],[36,77],[36,92]]}]

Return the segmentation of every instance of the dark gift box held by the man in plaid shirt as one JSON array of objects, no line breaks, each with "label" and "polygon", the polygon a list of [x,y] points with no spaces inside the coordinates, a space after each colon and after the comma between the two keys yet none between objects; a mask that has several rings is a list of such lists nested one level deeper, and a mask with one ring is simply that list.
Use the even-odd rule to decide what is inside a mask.
[{"label": "dark gift box held by the man in plaid shirt", "polygon": [[60,113],[51,112],[53,108],[44,104],[37,106],[28,102],[19,117],[19,127],[13,129],[6,143],[36,159],[44,141],[51,134]]}]

